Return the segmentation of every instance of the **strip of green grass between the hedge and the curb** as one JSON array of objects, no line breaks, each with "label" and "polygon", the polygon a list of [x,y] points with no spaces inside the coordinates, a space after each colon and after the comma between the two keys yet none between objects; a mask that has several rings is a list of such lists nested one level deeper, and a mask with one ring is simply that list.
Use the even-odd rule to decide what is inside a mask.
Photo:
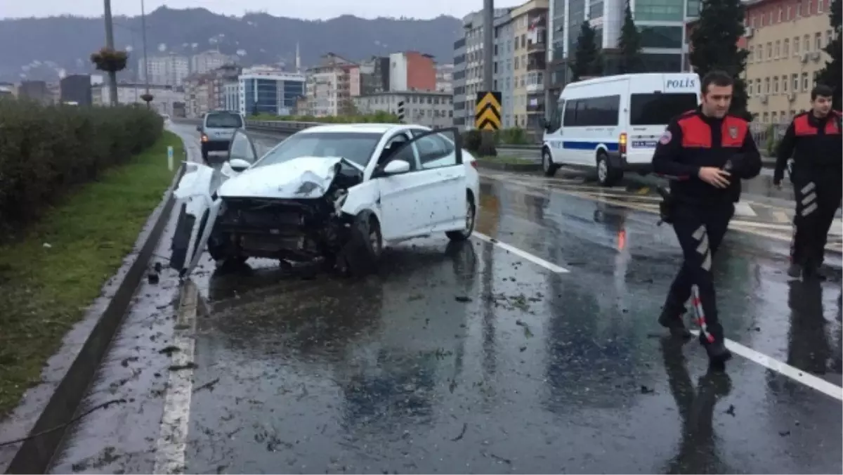
[{"label": "strip of green grass between the hedge and the curb", "polygon": [[62,337],[132,252],[173,180],[168,146],[178,165],[181,139],[164,132],[126,165],[70,193],[22,239],[0,246],[0,417],[41,381]]}]

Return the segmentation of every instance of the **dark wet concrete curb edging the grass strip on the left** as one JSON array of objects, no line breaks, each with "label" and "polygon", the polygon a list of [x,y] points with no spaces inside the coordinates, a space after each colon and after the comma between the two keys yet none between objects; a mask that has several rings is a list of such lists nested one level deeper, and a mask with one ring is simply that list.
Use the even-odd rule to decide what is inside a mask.
[{"label": "dark wet concrete curb edging the grass strip on the left", "polygon": [[137,286],[147,273],[149,261],[158,246],[158,240],[164,234],[164,228],[175,206],[173,197],[175,186],[184,173],[185,166],[182,164],[165,192],[164,200],[162,200],[164,206],[157,208],[160,209],[160,213],[154,218],[154,211],[150,215],[149,220],[154,219],[154,224],[140,251],[137,252],[137,257],[85,339],[73,363],[62,375],[49,402],[46,403],[35,425],[30,429],[29,436],[32,438],[24,440],[20,445],[8,466],[6,475],[46,473],[50,467],[56,452],[62,446],[67,429],[72,425],[73,418],[79,415],[80,405],[94,382],[99,364],[108,353],[111,340],[121,327],[126,310],[132,305]]}]

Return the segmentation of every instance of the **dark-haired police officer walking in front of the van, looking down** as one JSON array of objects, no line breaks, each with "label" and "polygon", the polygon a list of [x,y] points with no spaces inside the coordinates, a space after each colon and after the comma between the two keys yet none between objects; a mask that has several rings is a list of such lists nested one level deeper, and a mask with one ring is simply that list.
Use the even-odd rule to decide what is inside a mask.
[{"label": "dark-haired police officer walking in front of the van, looking down", "polygon": [[690,297],[700,343],[711,363],[722,364],[732,354],[717,316],[711,257],[740,199],[740,181],[759,175],[761,157],[749,122],[728,113],[733,78],[712,71],[701,82],[701,105],[668,124],[652,157],[653,172],[671,179],[664,218],[673,224],[684,257],[658,322],[674,337],[690,338],[682,321]]}]

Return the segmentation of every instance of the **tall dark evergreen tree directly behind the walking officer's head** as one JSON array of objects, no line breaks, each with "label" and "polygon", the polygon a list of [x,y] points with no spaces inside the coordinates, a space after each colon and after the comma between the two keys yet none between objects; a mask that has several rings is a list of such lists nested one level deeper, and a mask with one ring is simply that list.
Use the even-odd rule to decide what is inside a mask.
[{"label": "tall dark evergreen tree directly behind the walking officer's head", "polygon": [[690,37],[690,63],[702,78],[720,70],[734,79],[730,112],[751,118],[746,110],[746,85],[740,74],[746,68],[749,52],[738,47],[744,36],[744,6],[741,0],[707,0],[702,3],[700,19]]}]

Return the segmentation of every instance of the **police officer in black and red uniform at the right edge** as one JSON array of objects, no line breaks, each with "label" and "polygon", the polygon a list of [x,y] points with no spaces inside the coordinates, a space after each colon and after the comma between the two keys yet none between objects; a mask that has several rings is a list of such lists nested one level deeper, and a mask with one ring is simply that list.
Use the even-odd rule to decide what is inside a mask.
[{"label": "police officer in black and red uniform at the right edge", "polygon": [[795,117],[779,143],[773,184],[781,186],[787,160],[793,158],[791,181],[796,195],[795,232],[787,274],[819,278],[825,242],[843,197],[843,131],[841,116],[831,110],[834,91],[818,85],[811,91],[811,111]]}]

